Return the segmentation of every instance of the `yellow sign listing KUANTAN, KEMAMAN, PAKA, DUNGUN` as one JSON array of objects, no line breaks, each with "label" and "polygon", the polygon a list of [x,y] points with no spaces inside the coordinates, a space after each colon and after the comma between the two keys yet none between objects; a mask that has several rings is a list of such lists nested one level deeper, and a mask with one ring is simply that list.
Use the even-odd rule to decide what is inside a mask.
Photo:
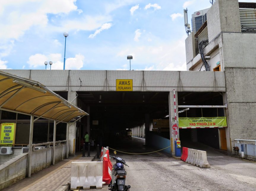
[{"label": "yellow sign listing KUANTAN, KEMAMAN, PAKA, DUNGUN", "polygon": [[13,145],[15,142],[16,123],[1,123],[0,144]]}]

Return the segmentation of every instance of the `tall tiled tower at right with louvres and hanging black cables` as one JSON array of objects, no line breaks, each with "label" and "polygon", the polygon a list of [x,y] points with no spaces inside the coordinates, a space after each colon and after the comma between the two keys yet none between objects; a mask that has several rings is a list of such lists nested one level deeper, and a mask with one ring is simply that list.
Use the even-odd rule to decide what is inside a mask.
[{"label": "tall tiled tower at right with louvres and hanging black cables", "polygon": [[255,8],[256,3],[217,0],[207,12],[207,22],[186,39],[187,70],[199,71],[202,67],[196,46],[206,40],[204,56],[211,57],[207,60],[210,71],[225,73],[223,101],[228,105],[225,115],[230,147],[234,146],[233,138],[256,139]]}]

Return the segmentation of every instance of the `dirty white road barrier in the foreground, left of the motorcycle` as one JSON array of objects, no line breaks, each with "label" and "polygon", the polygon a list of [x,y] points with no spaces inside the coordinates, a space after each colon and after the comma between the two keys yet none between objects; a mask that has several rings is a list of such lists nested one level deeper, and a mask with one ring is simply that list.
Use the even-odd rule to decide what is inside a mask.
[{"label": "dirty white road barrier in the foreground, left of the motorcycle", "polygon": [[102,162],[71,162],[70,190],[87,190],[90,186],[102,189],[102,168]]}]

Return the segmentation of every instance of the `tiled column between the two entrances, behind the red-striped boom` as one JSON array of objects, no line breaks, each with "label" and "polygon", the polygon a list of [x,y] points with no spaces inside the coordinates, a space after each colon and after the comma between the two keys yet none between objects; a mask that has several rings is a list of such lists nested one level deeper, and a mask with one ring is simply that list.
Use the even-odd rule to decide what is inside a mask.
[{"label": "tiled column between the two entrances, behind the red-striped boom", "polygon": [[[176,99],[176,115],[177,115],[177,123],[178,123],[179,117],[178,117],[178,92],[177,91],[175,91],[175,99]],[[176,140],[176,136],[175,136],[175,131],[172,129],[172,125],[175,124],[173,91],[169,92],[168,101],[169,101],[169,125],[170,125],[171,154],[175,156],[174,141]],[[177,138],[179,140],[179,128],[177,129]],[[182,145],[182,143],[181,143],[181,145]]]}]

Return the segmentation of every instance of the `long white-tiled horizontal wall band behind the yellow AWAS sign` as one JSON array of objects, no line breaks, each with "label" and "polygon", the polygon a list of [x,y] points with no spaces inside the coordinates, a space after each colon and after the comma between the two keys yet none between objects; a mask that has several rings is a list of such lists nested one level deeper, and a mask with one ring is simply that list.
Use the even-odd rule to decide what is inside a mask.
[{"label": "long white-tiled horizontal wall band behind the yellow AWAS sign", "polygon": [[[27,70],[3,71],[12,74],[18,73],[22,77],[22,71],[24,74],[29,73]],[[43,74],[40,74],[41,72]],[[47,72],[51,73],[51,80],[48,79]],[[225,91],[225,76],[223,72],[219,72],[216,75],[214,72],[193,71],[47,70],[45,72],[44,70],[31,70],[31,76],[33,76],[32,80],[39,81],[52,91],[69,90],[69,92],[73,92],[68,95],[70,102],[76,97],[75,91],[116,91],[116,79],[133,79],[134,92],[169,92],[173,89],[191,92]],[[79,77],[82,81],[81,84]],[[65,82],[63,81],[64,79]],[[215,81],[217,82],[216,85]],[[73,101],[72,103],[76,102]]]}]

